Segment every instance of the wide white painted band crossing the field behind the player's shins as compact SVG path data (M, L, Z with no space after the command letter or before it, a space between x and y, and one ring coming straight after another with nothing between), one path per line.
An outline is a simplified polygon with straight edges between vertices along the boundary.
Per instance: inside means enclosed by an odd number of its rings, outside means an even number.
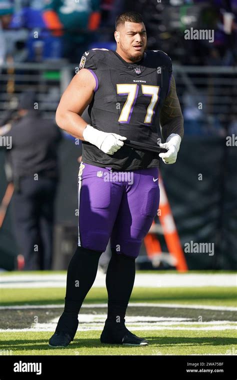
M134 287L200 287L237 285L237 275L230 274L147 274L137 273ZM0 276L0 288L65 287L66 274L21 274ZM105 274L97 272L93 287L105 287Z

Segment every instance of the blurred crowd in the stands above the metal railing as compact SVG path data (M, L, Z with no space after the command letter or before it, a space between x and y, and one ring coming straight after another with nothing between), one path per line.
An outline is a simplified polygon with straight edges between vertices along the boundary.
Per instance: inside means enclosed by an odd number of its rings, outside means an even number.
M236 0L137 0L135 8L147 25L149 49L159 46L182 64L236 62ZM111 48L115 16L133 9L133 0L0 0L0 65L7 55L75 63L92 44ZM213 43L183 38L197 25L214 31Z

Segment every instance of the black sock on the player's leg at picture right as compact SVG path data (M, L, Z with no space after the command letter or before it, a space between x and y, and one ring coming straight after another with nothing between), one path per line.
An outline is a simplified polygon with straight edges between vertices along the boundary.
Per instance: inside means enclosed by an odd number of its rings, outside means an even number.
M107 323L121 323L120 325L124 325L124 317L134 279L135 258L117 254L113 251L106 273L108 292Z

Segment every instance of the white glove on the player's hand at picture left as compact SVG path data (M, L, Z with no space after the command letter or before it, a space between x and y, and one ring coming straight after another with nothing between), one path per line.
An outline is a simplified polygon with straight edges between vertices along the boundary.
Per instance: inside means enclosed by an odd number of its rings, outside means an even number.
M93 128L90 124L86 125L82 135L85 141L97 146L106 154L113 154L123 146L123 140L126 140L124 136L120 136L116 133L103 132Z

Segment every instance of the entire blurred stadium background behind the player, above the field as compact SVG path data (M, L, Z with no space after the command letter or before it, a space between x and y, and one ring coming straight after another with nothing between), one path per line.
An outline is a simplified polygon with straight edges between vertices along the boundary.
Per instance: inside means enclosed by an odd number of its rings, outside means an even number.
M0 0L3 270L67 268L77 243L81 144L59 131L55 110L83 52L116 48L115 17L128 10L142 14L147 48L172 59L184 116L177 162L161 162L164 212L144 239L137 268L236 269L237 0ZM185 37L186 30L200 29L213 32L213 40ZM27 128L34 130L28 144ZM29 157L24 170L20 160L14 165L20 149L21 158ZM40 152L39 166L31 172L30 162ZM26 177L34 173L38 187L27 187ZM21 230L28 203L20 198L20 186L30 188L35 199L35 209L27 210L32 240ZM31 266L22 251L29 243ZM101 257L106 271L109 247Z

